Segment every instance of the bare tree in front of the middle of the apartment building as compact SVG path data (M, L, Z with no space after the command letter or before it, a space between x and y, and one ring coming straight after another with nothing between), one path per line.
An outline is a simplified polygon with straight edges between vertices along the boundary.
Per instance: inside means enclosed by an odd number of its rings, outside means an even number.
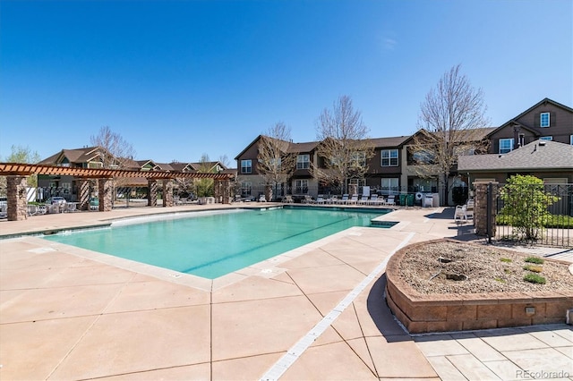
M323 183L341 185L346 192L349 179L363 179L368 172L368 161L374 155L368 133L352 99L338 97L332 110L325 108L317 122L317 155L323 163L312 163L312 174Z

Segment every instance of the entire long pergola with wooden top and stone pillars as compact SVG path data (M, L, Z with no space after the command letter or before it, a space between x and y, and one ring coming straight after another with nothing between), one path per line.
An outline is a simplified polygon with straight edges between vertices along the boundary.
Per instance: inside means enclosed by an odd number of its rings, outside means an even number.
M26 179L31 174L73 176L78 182L78 208L90 207L90 182L98 181L99 211L112 208L112 182L117 178L146 179L150 189L148 206L156 207L158 181L163 182L163 207L173 207L174 179L213 179L217 202L229 203L229 183L233 174L200 174L178 171L139 171L109 168L77 168L57 165L33 165L22 163L0 163L0 175L7 176L8 220L27 218Z

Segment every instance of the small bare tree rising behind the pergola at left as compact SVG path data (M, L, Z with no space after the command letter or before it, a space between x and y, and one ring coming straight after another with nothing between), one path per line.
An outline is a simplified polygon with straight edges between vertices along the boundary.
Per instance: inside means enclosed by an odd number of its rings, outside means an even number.
M98 135L90 136L90 143L99 149L99 157L104 168L124 168L135 156L131 143L108 126L99 129Z

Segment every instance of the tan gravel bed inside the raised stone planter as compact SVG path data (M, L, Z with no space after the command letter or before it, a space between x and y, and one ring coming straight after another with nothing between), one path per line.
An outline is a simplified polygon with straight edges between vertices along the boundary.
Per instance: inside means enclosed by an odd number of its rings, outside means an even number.
M529 264L541 267L539 275L546 279L545 284L524 281L524 276L531 273L523 268L528 265L527 257L530 256L494 247L432 242L409 250L400 262L398 275L423 294L573 290L569 265L549 260L543 265ZM466 275L467 279L454 280L459 275Z

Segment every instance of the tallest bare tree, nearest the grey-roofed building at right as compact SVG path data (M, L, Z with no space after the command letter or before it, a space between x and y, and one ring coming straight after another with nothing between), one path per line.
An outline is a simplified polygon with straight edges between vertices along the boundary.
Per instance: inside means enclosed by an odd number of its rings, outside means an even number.
M448 204L449 174L458 156L487 148L483 139L483 128L489 123L486 109L483 90L471 86L459 64L444 73L421 105L409 153L415 174L439 179L443 205Z

